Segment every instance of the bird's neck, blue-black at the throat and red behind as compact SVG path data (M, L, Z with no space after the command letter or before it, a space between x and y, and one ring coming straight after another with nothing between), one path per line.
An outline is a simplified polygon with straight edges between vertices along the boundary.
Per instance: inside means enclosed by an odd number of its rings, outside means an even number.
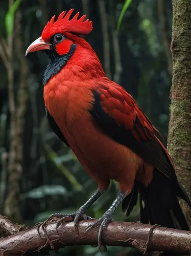
M60 56L54 52L47 51L47 56L49 58L49 63L44 72L44 86L61 70L64 71L63 75L67 78L69 75L66 72L67 70L73 70L75 76L79 77L80 79L105 77L101 62L91 47L87 49L80 45L73 44L71 45L68 54ZM67 66L67 69L65 66Z

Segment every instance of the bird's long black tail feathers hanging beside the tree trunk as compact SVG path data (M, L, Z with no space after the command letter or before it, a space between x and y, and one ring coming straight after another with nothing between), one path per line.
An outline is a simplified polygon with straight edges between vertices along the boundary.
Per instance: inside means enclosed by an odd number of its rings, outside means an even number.
M177 194L188 203L191 203L183 187L172 182L158 170L154 171L151 184L145 188L140 183L134 184L131 193L123 200L122 210L129 216L136 205L138 194L140 201L140 222L151 225L159 224L163 227L189 230L188 224L178 202ZM182 196L183 195L183 196Z

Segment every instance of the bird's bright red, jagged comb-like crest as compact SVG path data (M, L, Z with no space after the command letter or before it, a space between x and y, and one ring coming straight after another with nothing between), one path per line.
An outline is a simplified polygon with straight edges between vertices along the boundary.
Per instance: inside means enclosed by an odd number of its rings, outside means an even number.
M77 19L79 12L74 16L74 18L69 20L71 13L74 9L69 10L68 12L63 11L58 19L55 22L55 15L52 17L50 22L44 27L42 31L42 39L49 40L54 34L70 32L78 35L89 34L92 30L92 22L86 18L86 15L83 15L81 18Z

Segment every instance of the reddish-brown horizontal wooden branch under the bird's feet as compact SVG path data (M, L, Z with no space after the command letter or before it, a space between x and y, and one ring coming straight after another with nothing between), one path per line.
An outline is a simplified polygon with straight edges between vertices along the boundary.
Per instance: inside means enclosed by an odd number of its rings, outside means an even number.
M0 239L0 254L20 255L41 250L50 250L70 245L98 244L98 227L86 232L88 222L79 222L79 234L75 231L74 222L64 222L56 231L58 219L53 219L44 228L38 224L33 228ZM149 238L149 239L148 239ZM143 225L140 222L112 222L103 232L103 244L109 246L134 246L140 252L174 251L191 253L191 232ZM51 245L51 246L50 246Z

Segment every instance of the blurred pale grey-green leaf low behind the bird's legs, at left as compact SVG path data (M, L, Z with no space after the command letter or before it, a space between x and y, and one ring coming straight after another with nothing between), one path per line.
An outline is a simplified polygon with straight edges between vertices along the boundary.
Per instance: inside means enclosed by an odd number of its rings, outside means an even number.
M54 195L65 195L67 190L61 185L42 185L30 190L26 194L21 195L21 199L33 198L39 199L45 196L54 196Z

